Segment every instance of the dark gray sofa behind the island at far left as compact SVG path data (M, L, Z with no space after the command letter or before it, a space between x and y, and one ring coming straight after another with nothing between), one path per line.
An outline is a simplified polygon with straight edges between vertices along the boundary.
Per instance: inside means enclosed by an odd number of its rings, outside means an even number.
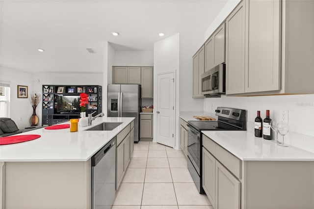
M32 129L19 129L11 118L0 118L0 137L10 136L17 133L41 129L43 127L35 127Z

